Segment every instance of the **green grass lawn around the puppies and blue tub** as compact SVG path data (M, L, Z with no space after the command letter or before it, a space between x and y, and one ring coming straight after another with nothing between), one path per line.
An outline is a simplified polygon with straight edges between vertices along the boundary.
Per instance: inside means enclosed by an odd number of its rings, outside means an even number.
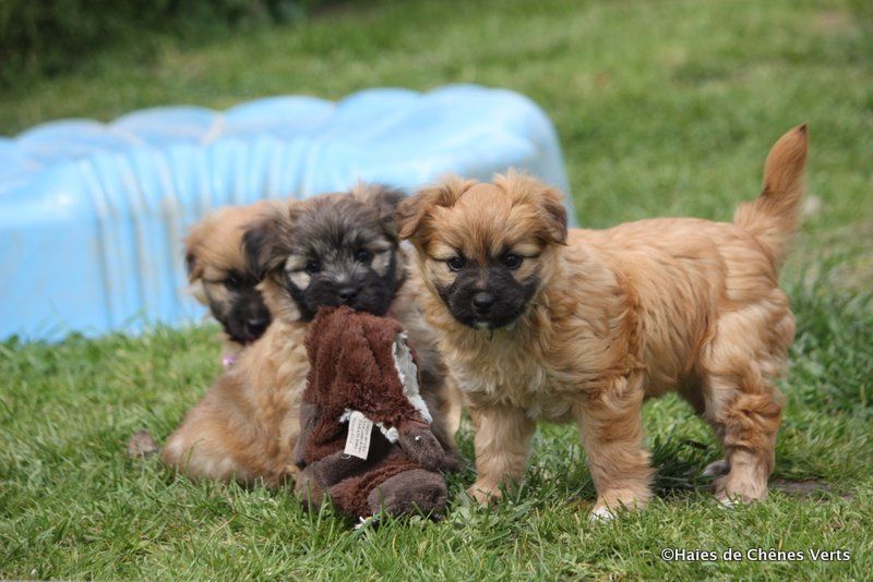
M536 8L534 8L536 7ZM814 481L726 511L699 470L708 429L646 408L658 499L589 524L570 427L543 425L527 484L495 509L351 530L287 493L191 484L127 438L159 438L219 372L212 328L0 344L2 578L865 578L873 570L873 12L860 1L409 1L340 4L297 27L179 45L145 36L0 94L0 133L270 94L372 85L514 88L554 120L579 219L729 219L769 145L811 124L806 219L782 277L799 332L774 477ZM470 434L462 445L471 456ZM451 481L459 494L467 472ZM848 562L665 562L665 547L846 549Z

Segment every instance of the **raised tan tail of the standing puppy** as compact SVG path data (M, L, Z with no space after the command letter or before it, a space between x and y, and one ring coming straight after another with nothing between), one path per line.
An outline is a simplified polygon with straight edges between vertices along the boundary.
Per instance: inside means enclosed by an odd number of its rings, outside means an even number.
M733 222L755 235L777 268L800 227L806 134L804 123L776 142L764 163L764 190L733 215Z

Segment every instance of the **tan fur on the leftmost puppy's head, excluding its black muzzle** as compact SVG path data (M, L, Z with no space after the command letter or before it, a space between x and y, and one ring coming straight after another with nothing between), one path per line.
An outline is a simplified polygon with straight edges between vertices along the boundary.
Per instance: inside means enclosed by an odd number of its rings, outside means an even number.
M259 201L248 206L227 206L220 208L195 223L184 241L186 260L189 265L188 282L191 295L201 305L210 306L206 294L216 301L232 301L231 293L224 281L232 270L246 270L246 256L242 252L242 233L249 223L271 211L278 202ZM225 356L239 355L244 345L222 334Z

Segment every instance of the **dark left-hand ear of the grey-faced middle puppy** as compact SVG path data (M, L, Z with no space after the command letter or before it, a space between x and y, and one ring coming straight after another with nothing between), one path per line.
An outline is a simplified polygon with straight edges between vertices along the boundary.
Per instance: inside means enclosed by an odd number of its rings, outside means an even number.
M242 234L242 252L249 272L259 279L282 266L289 254L296 203L271 206L250 222Z

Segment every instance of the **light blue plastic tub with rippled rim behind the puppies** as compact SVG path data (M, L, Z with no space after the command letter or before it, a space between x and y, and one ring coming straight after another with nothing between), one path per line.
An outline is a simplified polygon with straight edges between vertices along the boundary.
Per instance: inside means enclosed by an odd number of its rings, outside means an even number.
M569 194L542 110L474 85L38 125L0 138L0 339L200 319L182 239L220 206L306 198L359 180L411 193L446 173L488 180L512 167ZM566 204L574 220L570 196Z

